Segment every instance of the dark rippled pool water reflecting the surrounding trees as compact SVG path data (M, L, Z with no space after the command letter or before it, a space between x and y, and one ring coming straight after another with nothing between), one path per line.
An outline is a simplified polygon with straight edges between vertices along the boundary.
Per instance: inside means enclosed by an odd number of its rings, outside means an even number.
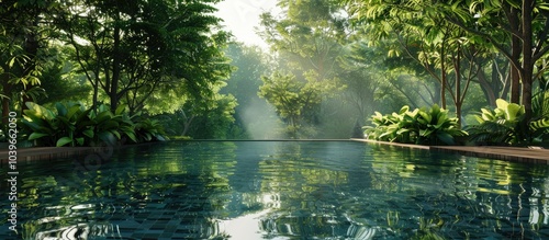
M4 218L0 239L549 239L548 165L355 141L103 157L20 162L19 236Z

